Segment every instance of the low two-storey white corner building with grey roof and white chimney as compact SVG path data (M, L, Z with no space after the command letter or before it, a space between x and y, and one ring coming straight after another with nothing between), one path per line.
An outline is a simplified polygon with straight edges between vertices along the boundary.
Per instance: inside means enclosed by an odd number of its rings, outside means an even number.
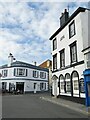
M13 61L10 53L8 64L0 67L2 89L22 92L43 92L48 90L48 69L21 61Z

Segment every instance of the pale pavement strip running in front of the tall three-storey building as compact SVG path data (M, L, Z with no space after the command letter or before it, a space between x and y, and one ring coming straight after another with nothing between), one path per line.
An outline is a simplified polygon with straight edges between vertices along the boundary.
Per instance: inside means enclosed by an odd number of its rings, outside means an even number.
M74 111L78 111L82 114L88 115L88 117L90 118L90 107L86 107L83 104L72 102L66 99L62 99L62 98L52 97L49 95L42 96L41 99L48 101L48 102L52 102L54 104L58 104L63 107L67 107Z

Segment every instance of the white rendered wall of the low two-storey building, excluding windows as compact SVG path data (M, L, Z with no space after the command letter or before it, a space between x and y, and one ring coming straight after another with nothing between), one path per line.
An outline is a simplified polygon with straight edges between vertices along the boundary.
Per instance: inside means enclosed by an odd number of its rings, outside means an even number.
M27 76L25 77L17 77L14 76L14 68L23 68L27 69ZM30 68L25 68L25 67L11 67L11 68L4 68L5 70L8 70L8 75L7 77L1 77L1 82L7 82L6 89L9 90L9 83L14 83L16 87L16 82L24 82L24 92L30 92L34 91L34 83L37 84L37 91L40 90L40 83L46 83L46 89L45 91L48 90L48 72L43 71L43 70L36 70L36 69L30 69ZM2 70L0 69L0 73L2 73ZM38 78L33 77L33 70L36 70L39 72ZM46 78L42 79L40 78L40 72L46 73Z

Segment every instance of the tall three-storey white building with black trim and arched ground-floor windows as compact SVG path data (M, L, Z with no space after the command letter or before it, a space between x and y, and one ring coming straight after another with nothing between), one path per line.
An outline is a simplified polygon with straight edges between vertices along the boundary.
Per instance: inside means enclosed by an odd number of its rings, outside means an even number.
M83 71L86 68L86 53L83 51L90 48L87 45L90 36L88 16L90 10L86 8L79 7L71 16L65 9L60 17L60 28L50 37L53 61L52 94L55 96L77 101L85 98Z

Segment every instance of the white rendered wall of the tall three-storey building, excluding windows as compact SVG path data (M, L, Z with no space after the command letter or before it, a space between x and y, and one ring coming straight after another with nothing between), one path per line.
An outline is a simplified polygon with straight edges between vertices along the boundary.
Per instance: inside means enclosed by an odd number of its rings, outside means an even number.
M69 24L72 21L75 21L75 30L76 35L74 35L72 38L69 39ZM70 66L70 47L69 45L72 44L74 41L76 41L77 44L77 61L81 62L84 61L84 54L82 52L83 50L83 39L86 39L87 36L87 11L79 13L73 20L70 21L70 23L62 30L58 35L56 35L57 39L57 49L52 51L52 55L57 53L57 72L52 73L53 75L56 75L58 78L60 74L63 74L65 76L66 73L71 73L73 71L77 71L79 74L79 79L83 78L83 71L85 70L85 64L80 64L75 67L70 67L68 69L60 70L60 53L62 49L65 48L65 66ZM60 38L64 36L64 38L60 41ZM54 39L55 39L54 38ZM51 41L53 43L53 40ZM53 66L52 66L53 70ZM57 80L58 83L58 80ZM53 85L54 86L54 85ZM58 89L58 87L57 87ZM58 89L59 90L59 89ZM54 94L54 90L53 90ZM62 93L63 94L63 93ZM80 93L81 97L85 97L84 93Z

